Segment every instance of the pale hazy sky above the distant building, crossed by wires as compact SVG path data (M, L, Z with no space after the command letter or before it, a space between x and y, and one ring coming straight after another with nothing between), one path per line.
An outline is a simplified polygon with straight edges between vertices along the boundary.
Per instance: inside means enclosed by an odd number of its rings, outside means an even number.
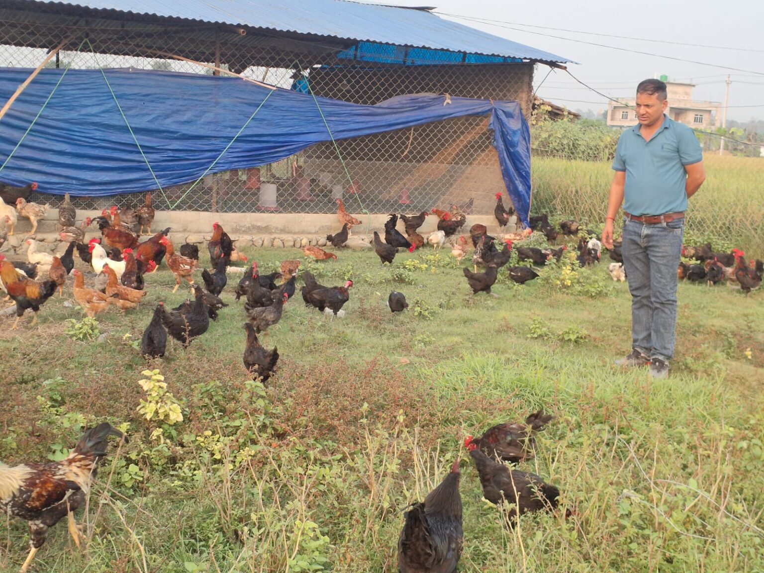
M738 121L764 118L764 1L762 0L720 2L664 0L664 2L646 4L607 3L597 0L543 4L509 3L500 2L500 0L474 0L473 2L432 0L431 3L420 0L397 0L389 3L408 6L431 5L436 6L436 11L440 13L500 21L501 23L492 25L449 18L490 34L507 37L520 44L575 60L579 63L568 64L571 73L582 82L611 97L633 95L636 84L640 80L652 78L657 73L669 76L669 80L696 83L694 99L724 102L724 80L729 73L732 84L727 118ZM630 36L643 38L643 40L529 28L529 25ZM559 37L656 55L648 56L614 50L610 47L581 44ZM681 46L646 40L701 45ZM724 48L744 48L751 51ZM659 56L729 66L746 71L725 70L720 67L669 60ZM535 76L536 86L548 70L547 66L538 67ZM538 95L566 105L570 109L601 110L606 107L604 98L575 83L562 70L556 70L549 75L539 89ZM743 105L758 107L733 107Z

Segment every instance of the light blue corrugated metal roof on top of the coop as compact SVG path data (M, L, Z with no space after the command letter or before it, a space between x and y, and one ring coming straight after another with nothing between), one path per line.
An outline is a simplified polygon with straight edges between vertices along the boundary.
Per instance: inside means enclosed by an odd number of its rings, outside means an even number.
M343 0L79 0L56 3L523 60L571 61L444 20L423 8Z

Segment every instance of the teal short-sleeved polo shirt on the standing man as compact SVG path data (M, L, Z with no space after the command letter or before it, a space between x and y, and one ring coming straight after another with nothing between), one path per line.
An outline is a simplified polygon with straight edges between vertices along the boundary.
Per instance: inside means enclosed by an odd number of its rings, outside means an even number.
M663 115L650 141L639 125L620 134L613 170L626 171L623 210L631 215L662 215L687 209L685 165L703 159L701 144L688 126Z

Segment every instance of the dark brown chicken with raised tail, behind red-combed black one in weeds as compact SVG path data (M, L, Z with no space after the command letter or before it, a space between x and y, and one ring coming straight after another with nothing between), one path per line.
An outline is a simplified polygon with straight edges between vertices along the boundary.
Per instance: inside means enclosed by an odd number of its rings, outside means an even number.
M497 424L487 429L480 438L468 435L465 439L465 448L474 444L490 458L519 464L521 461L533 458L535 447L533 435L544 429L544 426L552 421L552 417L551 414L545 414L543 410L539 410L530 414L525 422Z

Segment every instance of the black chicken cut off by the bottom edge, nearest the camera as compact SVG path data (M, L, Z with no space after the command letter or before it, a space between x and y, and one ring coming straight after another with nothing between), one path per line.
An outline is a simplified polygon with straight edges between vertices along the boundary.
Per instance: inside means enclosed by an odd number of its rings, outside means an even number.
M423 502L413 503L398 538L400 573L454 573L461 556L459 460Z

